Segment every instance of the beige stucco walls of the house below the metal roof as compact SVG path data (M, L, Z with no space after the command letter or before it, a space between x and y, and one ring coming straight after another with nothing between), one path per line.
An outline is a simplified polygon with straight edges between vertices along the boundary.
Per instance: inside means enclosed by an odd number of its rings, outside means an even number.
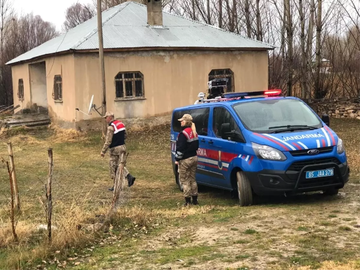
M212 69L231 69L235 92L266 90L268 85L265 50L119 51L106 52L104 60L107 111L113 111L118 118L162 116L176 107L193 104L199 92L206 93ZM32 71L33 64L39 62L45 62L46 70ZM114 78L119 72L130 71L143 74L144 97L117 100ZM34 96L41 92L36 81L41 82L43 79L38 77L46 76L47 108L52 122L76 127L84 126L84 120L100 119L94 111L87 116L75 110L86 112L91 95L94 95L94 104L101 105L97 53L66 54L15 64L12 72L14 105L20 104L19 109L36 108ZM55 75L62 76L62 102L52 98ZM17 96L19 78L24 82L24 100Z

